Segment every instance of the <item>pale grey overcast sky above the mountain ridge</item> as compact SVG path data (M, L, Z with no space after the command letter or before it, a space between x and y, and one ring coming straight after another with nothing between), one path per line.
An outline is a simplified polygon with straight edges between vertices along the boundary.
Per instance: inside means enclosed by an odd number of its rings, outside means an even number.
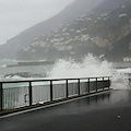
M43 22L74 0L0 0L0 44Z

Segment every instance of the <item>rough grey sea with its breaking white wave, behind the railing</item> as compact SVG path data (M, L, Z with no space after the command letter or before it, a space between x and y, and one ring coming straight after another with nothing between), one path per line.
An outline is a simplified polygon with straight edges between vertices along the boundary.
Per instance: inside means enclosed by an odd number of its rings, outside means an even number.
M0 81L111 76L112 84L124 85L129 84L128 79L131 75L130 62L109 62L92 53L85 56L81 62L59 59L55 64L8 67L17 62L10 59L0 60Z

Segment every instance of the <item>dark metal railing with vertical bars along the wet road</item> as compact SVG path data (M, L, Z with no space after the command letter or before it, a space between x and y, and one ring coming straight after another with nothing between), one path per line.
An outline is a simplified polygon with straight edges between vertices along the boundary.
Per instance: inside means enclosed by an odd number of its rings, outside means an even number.
M110 76L0 82L0 110L44 104L110 87Z

